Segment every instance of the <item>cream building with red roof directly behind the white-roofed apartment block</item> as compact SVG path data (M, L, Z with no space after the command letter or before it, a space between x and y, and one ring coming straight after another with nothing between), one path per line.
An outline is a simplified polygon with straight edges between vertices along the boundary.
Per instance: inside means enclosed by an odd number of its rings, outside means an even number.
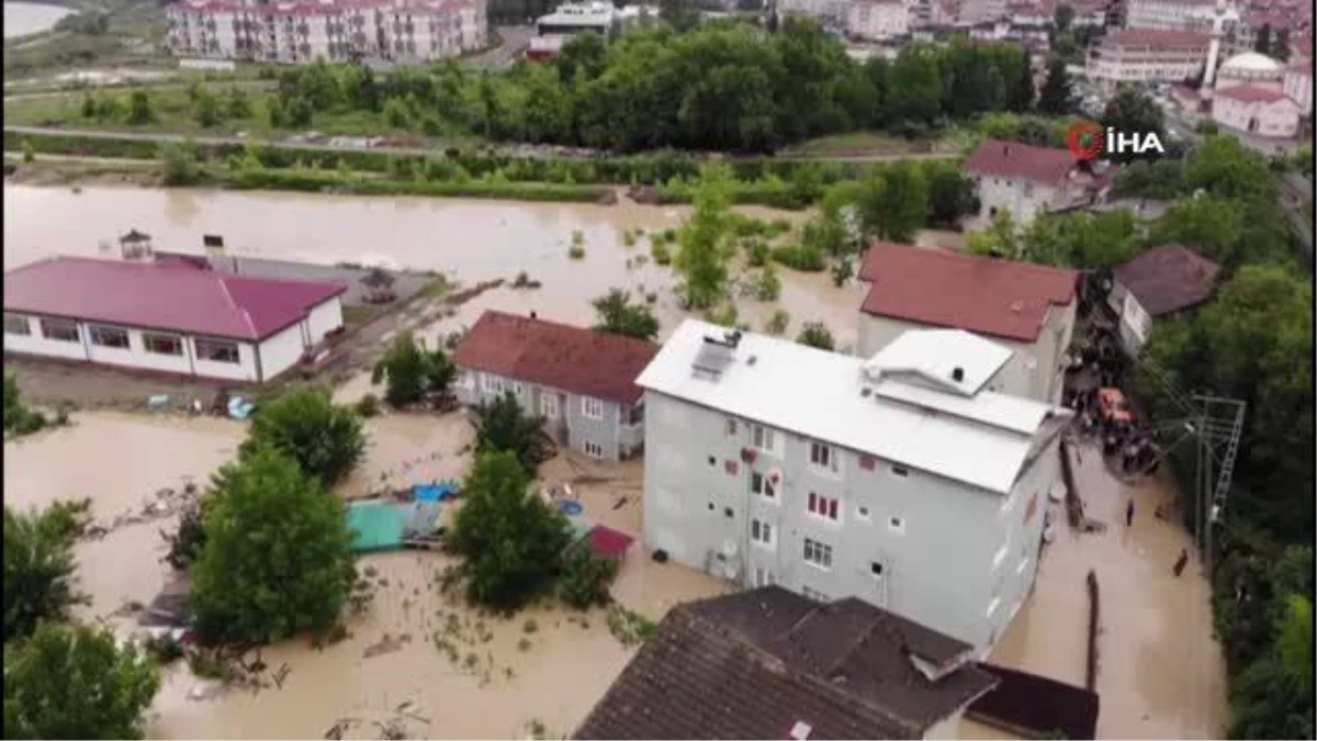
M1060 401L1079 303L1076 272L874 243L860 265L860 280L869 283L860 305L860 357L907 340L910 330L964 330L1011 351L988 378L989 390Z

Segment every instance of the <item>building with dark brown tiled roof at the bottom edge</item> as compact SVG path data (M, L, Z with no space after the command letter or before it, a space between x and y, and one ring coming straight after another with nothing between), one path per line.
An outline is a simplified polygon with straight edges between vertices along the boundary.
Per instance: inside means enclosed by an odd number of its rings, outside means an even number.
M573 738L951 740L998 682L971 649L855 599L764 587L684 603Z

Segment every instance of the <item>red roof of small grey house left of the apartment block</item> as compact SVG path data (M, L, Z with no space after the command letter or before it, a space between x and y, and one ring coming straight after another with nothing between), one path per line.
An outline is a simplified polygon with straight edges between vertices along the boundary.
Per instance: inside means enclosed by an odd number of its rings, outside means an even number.
M632 403L636 377L655 343L502 311L486 311L453 352L462 368L498 373L573 394Z

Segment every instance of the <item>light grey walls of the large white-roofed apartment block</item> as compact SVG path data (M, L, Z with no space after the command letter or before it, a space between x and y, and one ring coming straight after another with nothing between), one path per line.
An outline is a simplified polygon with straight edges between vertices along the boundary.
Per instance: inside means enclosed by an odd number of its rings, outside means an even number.
M1027 501L1019 500L1055 479L1055 455L1040 456L1008 500L919 471L900 476L881 460L868 471L857 454L840 448L834 448L840 476L831 477L810 465L809 439L781 430L780 458L756 454L745 463L747 421L736 419L728 435L728 418L715 410L652 392L647 407L644 539L651 551L662 548L745 587L764 575L797 592L857 596L980 649L1000 637L1033 583L1047 490L1040 489L1027 527ZM751 473L772 469L782 473L776 501L751 493ZM807 512L810 492L839 500L838 522ZM772 525L772 547L751 541L753 519ZM803 559L806 538L831 546L830 568ZM1023 558L1033 563L1019 570ZM874 562L882 564L881 578Z

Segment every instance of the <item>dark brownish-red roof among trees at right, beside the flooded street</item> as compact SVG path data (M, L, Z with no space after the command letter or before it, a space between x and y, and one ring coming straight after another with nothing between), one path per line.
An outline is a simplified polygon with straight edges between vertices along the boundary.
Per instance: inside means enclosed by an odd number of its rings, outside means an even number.
M1221 265L1179 244L1163 244L1117 265L1112 274L1150 316L1162 316L1212 298Z

